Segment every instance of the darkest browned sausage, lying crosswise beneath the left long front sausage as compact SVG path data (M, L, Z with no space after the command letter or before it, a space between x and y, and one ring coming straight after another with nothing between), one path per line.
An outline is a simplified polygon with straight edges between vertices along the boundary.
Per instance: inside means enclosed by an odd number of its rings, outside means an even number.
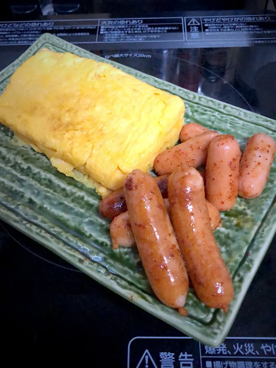
M167 184L169 175L162 175L154 178L162 193L163 198L168 197ZM125 204L124 188L115 190L113 193L109 194L107 197L103 198L100 202L99 211L104 217L113 219L115 216L124 213L127 210L127 205Z

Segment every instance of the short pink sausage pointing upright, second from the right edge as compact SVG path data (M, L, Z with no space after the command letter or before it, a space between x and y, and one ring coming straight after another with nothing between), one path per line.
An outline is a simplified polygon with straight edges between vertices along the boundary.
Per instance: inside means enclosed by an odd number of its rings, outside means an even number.
M210 143L205 194L219 211L229 210L236 203L240 158L240 147L233 135L220 135Z

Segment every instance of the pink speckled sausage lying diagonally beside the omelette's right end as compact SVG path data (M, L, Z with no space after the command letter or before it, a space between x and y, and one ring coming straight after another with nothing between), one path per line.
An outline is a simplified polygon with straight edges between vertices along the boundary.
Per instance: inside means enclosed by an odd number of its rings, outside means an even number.
M160 153L154 161L155 171L164 175L180 170L183 164L190 167L204 165L209 144L217 135L219 133L210 130Z

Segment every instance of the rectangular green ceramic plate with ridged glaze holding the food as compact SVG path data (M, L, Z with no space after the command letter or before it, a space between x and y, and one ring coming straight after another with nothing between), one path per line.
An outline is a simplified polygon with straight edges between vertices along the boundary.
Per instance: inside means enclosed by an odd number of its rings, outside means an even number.
M42 47L104 61L185 101L186 123L195 121L222 133L231 133L244 147L247 137L263 132L276 138L276 122L187 91L139 71L102 59L55 36L40 37L22 56L0 73L0 93L11 74ZM185 334L209 346L219 345L229 331L245 293L276 231L276 163L259 198L238 198L222 213L223 227L215 230L217 243L231 273L235 298L229 311L205 307L192 290L188 317L165 307L152 294L137 266L135 249L112 249L109 222L99 216L100 197L31 148L11 143L13 133L0 124L0 217L38 241L109 289ZM93 291L92 291L93 292ZM108 316L107 316L108 317Z

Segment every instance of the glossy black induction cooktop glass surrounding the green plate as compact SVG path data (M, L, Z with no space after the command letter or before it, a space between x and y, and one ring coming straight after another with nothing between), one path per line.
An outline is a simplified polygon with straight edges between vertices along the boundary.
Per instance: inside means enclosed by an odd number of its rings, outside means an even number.
M176 15L179 16L181 15ZM204 14L197 13L195 16L188 14L186 25L192 19L194 21L190 26L196 24L201 16L204 17ZM238 17L238 13L236 16ZM50 18L48 17L47 21L50 21ZM89 17L79 19L82 19L84 24L89 23L87 21ZM72 27L80 24L79 19L70 18ZM99 19L108 20L108 17L98 16L93 18L95 19L97 19L96 26L99 26ZM94 24L92 18L91 24ZM184 25L183 22L183 27ZM35 29L35 26L32 27ZM39 26L38 30L41 31ZM269 30L276 31L274 23L271 23ZM91 35L94 32L92 31ZM84 42L80 36L82 35L70 35L71 42L78 43L106 59L115 60L201 95L276 119L276 43L246 45L237 43L236 46L230 44L221 46L217 43L213 47L207 47L202 40L203 46L195 47L185 43L177 44L178 41L172 41L174 42L172 45L171 42L164 40L155 42L149 47L149 43L125 40L120 42L118 39L115 39L116 42L102 42L99 45L96 42ZM68 37L68 33L65 37ZM181 42L188 42L185 33L183 38ZM18 39L2 43L0 69L26 50L28 41L25 43ZM185 45L187 47L183 47ZM274 238L229 333L229 336L248 339L263 337L263 346L265 343L270 346L271 341L269 353L271 357L267 368L275 368L272 363L276 362L276 354L273 361L273 349L276 353L276 346L274 348L273 344L276 345L276 341L265 340L276 338L275 244ZM170 364L174 364L170 366L165 365L162 359L155 361L152 358L153 354L149 352L149 346L151 351L154 351L161 344L160 339L140 343L145 350L142 357L135 352L138 347L136 348L133 342L130 345L132 347L128 349L130 341L137 336L184 337L184 335L109 291L4 222L0 222L0 274L2 280L0 315L1 331L5 336L2 342L4 354L13 346L14 352L28 352L27 355L32 357L34 355L31 353L36 352L43 353L41 357L59 356L63 362L69 360L72 362L74 355L79 362L85 359L85 364L92 367L127 367L127 357L129 367L146 367L146 365L149 368L192 367L190 363L180 365L181 358L173 363L170 361ZM176 346L173 339L162 341L160 348L162 346L164 352L168 352L169 349L173 351L173 347ZM229 344L233 347L235 344L238 344L238 347L242 346L241 351L244 347L250 346L247 344L252 344L252 340L245 342L230 339L226 342L227 346ZM226 367L215 363L216 361L223 363L225 359L204 358L202 356L204 347L198 347L198 343L190 340L181 340L181 343L183 346L190 346L194 351L197 350L195 355L201 354L200 359L194 358L194 367L202 368L202 365L204 368ZM240 362L249 356L245 355L246 351L248 350L244 350L244 354L240 353ZM209 356L209 353L206 350L205 355ZM216 354L216 351L213 353ZM256 357L258 354L255 354L255 360L251 359L252 367L266 368L262 365L266 355L259 361ZM232 360L234 361L234 358ZM168 362L169 360L167 364ZM235 367L235 364L231 366ZM251 368L251 365L250 362L247 365L239 363L236 367Z

